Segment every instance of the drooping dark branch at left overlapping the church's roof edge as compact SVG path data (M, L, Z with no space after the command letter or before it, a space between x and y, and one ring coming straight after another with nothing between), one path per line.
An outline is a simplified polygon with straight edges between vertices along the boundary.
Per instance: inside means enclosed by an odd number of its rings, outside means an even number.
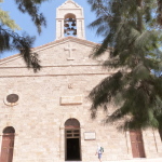
M0 52L18 50L27 67L37 72L41 66L38 54L31 52L33 40L27 35L19 37L16 32L0 27Z

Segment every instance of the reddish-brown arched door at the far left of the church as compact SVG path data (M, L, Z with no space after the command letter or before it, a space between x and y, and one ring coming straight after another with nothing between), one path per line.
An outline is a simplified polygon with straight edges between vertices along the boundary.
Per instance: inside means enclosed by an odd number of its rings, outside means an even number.
M12 162L15 130L8 126L3 130L0 162Z

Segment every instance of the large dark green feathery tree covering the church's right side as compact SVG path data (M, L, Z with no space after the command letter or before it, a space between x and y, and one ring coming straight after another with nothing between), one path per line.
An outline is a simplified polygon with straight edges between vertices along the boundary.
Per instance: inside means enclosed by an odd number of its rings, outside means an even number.
M90 93L92 117L98 108L117 109L108 123L118 129L162 129L162 0L89 0L97 19L90 27L104 36L93 57L109 48L105 68L116 72Z

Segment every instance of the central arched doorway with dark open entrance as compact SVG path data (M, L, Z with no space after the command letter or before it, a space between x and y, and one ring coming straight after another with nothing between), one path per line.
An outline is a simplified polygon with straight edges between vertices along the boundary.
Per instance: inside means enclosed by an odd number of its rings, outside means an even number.
M65 160L81 160L80 123L77 119L65 122Z

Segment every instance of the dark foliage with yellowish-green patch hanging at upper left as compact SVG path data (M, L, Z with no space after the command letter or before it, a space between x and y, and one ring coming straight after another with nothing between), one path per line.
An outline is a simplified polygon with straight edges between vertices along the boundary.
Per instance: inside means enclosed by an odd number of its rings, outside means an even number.
M41 26L45 26L45 18L39 12L40 4L48 0L14 0L17 9L22 13L27 13L35 23L38 32L41 32ZM0 0L3 2L3 0ZM33 68L33 71L40 69L40 60L38 54L31 52L35 37L29 37L27 33L19 36L15 32L19 27L13 19L10 18L8 12L0 9L0 53L4 51L18 50L28 68Z

